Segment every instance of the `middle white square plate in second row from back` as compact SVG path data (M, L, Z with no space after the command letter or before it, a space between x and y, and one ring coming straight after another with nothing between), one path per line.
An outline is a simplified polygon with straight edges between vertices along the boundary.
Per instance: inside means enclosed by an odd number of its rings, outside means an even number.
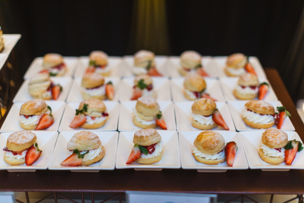
M152 77L153 91L157 101L171 101L169 80L167 77ZM124 78L121 82L120 101L130 101L133 94L134 77Z

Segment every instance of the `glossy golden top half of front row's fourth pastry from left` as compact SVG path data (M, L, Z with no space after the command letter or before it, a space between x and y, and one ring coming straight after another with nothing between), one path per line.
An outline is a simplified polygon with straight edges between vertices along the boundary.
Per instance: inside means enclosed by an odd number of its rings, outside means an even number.
M225 139L216 131L205 130L195 138L194 146L204 154L216 154L224 149Z

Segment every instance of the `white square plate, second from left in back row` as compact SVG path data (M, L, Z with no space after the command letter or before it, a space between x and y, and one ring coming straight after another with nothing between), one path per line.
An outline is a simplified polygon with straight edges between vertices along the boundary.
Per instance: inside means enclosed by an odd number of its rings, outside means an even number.
M108 58L108 66L111 70L111 77L120 77L121 71L119 64L122 63L122 57L118 56L110 56ZM75 77L82 77L85 74L85 70L88 68L89 64L89 57L88 56L81 56L79 59L79 63L75 72Z

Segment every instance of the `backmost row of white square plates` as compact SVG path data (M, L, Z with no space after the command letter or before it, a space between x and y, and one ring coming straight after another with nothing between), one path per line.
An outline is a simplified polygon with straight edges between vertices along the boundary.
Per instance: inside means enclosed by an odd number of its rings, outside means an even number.
M37 57L29 66L24 79L28 79L42 69L43 57ZM266 79L266 74L257 57L249 57L250 63L253 65L257 76ZM64 62L68 67L66 76L82 77L89 64L88 56L81 57L64 57ZM226 77L223 72L225 67L226 56L204 56L202 57L202 65L210 77ZM132 68L134 67L133 56L111 56L108 60L112 77L132 76ZM181 77L178 69L181 67L178 56L155 56L155 65L157 70L165 77Z

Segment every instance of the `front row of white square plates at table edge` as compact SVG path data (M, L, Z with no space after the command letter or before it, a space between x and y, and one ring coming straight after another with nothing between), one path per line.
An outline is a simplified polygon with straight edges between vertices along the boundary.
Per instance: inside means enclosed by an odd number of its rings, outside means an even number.
M0 170L9 172L34 172L36 170L71 170L72 172L98 172L99 170L128 169L134 170L162 170L162 169L195 169L198 172L225 172L226 170L261 169L265 171L288 171L290 169L304 169L304 152L297 153L292 165L285 163L271 165L265 163L258 154L261 146L263 131L218 131L225 142L237 143L237 153L230 167L226 162L219 165L206 165L197 162L192 156L193 142L201 131L165 131L158 130L163 142L163 157L153 164L126 164L133 147L135 131L95 131L105 148L104 158L90 166L60 166L60 163L70 156L67 143L78 131L33 131L37 137L39 148L43 151L42 156L32 166L10 166L0 159ZM288 140L299 140L299 135L294 131L286 131ZM11 133L0 134L0 148L5 147L6 140ZM56 141L57 140L57 141ZM302 141L301 141L302 142ZM55 144L56 143L56 144ZM4 156L0 151L0 157Z

